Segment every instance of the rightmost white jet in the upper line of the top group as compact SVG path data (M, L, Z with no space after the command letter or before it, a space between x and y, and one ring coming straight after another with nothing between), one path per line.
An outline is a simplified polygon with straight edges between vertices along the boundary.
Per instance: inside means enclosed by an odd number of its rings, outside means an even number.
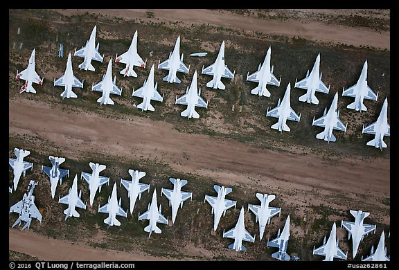
M377 100L378 92L375 94L373 90L367 85L367 60L364 62L362 73L360 73L359 80L348 89L342 89L342 96L350 96L355 98L355 101L346 106L348 109L355 109L356 111L367 111L366 106L363 104L363 99Z

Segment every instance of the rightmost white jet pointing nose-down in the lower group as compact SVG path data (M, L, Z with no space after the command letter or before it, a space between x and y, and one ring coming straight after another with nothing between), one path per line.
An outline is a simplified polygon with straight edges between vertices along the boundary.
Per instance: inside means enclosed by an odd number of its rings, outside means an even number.
M363 212L362 210L350 210L355 222L341 222L341 228L344 227L348 231L348 240L351 239L353 243L353 258L356 257L357 249L359 248L360 242L363 241L364 235L369 233L375 233L375 225L363 224L363 221L370 213Z

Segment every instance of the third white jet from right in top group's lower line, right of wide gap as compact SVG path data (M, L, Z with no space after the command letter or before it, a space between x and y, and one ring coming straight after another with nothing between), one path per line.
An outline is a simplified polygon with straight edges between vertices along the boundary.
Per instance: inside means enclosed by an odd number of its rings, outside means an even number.
M285 90L285 94L283 97L283 101L280 103L280 99L278 99L277 107L271 109L267 108L266 116L276 117L278 118L278 122L272 125L272 129L278 129L279 132L290 132L290 127L288 127L287 120L292 120L299 122L301 120L301 114L296 114L296 112L292 109L290 104L290 95L291 95L291 83L288 82L287 89Z

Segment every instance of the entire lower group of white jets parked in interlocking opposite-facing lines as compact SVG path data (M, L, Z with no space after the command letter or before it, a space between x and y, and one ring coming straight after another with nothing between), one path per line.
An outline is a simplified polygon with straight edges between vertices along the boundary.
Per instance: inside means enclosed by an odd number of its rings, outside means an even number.
M19 163L23 164L21 169L13 167L13 173L15 175L13 187L16 190L21 173L23 173L25 177L26 170L32 170L33 163L23 161L24 157L30 154L28 150L15 148L14 153L17 156L17 159L19 159ZM60 165L65 161L63 157L49 156L49 160L51 161L51 167L42 165L42 172L49 177L51 184L51 197L54 199L57 183L62 184L62 178L66 176L69 177L69 170L60 168ZM12 163L14 164L15 159L10 158L9 163L10 165ZM90 206L93 206L96 192L100 192L101 187L105 183L109 185L109 177L103 177L100 175L100 172L105 170L105 165L93 162L90 162L89 165L92 172L82 172L81 179L85 179L85 181L87 181L89 184L89 203ZM139 181L145 177L145 172L130 169L129 174L132 177L132 181L121 179L121 186L127 190L127 195L130 198L130 214L132 215L137 198L141 199L142 192L150 192L150 185L141 183ZM175 224L177 211L179 208L183 207L184 201L187 199L192 199L193 193L181 190L181 188L186 185L187 180L170 177L169 181L173 184L173 189L161 188L161 195L165 195L166 198L168 198L169 206L172 209L172 224ZM12 225L12 228L17 224L20 225L21 222L26 222L22 230L24 230L26 227L29 228L32 218L36 218L42 222L42 214L35 206L35 196L33 196L33 190L36 185L37 182L31 180L28 190L26 194L24 194L24 198L17 202L17 204L11 206L10 213L14 212L19 214L19 218ZM226 215L226 211L230 208L236 208L237 201L226 199L226 196L232 192L232 188L218 185L214 185L213 188L218 193L218 196L215 197L211 195L205 195L204 202L207 201L211 206L211 214L213 214L214 217L213 231L216 231L221 217L224 217L224 215ZM12 188L10 188L10 192L11 191ZM265 233L265 227L267 224L270 224L270 219L272 219L272 217L276 216L277 214L281 215L281 208L269 206L269 203L276 198L275 195L256 193L256 197L259 199L260 205L248 204L248 211L251 210L251 212L256 216L256 223L259 224L259 238L262 240ZM58 202L60 204L67 204L68 206L68 208L64 210L65 220L67 220L68 217L80 217L80 214L76 208L86 209L87 203L82 201L82 190L80 190L78 193L77 174L73 179L73 183L71 188L69 188L68 194L64 197L60 196ZM376 226L363 223L364 218L368 217L370 213L362 212L362 210L350 210L350 212L353 217L355 217L355 222L342 221L341 228L344 227L348 231L348 239L351 239L352 236L353 258L355 258L360 242L362 242L365 235L371 232L375 233ZM121 206L121 197L118 199L116 183L114 183L112 195L109 195L107 204L98 206L98 213L108 214L108 217L104 219L104 223L108 225L108 228L109 226L121 226L121 222L116 219L117 215L121 217L127 217L127 210L123 209ZM156 189L154 189L154 192L152 193L152 200L150 204L148 204L148 210L143 214L139 213L139 220L143 219L149 220L148 226L144 228L144 231L149 233L148 237L151 236L152 231L155 233L161 233L161 228L157 226L157 223L168 224L169 218L165 217L161 213L161 204L159 204L158 207ZM230 244L228 247L230 249L234 249L235 251L247 250L245 246L243 246L242 241L255 242L255 235L252 236L251 233L245 229L244 220L244 206L242 206L236 226L231 228L229 231L223 231L223 237L234 239L233 244ZM280 233L279 229L277 237L274 240L267 240L267 246L278 248L278 251L272 254L273 258L276 258L277 260L291 260L291 256L287 254L287 244L289 240L290 215L287 216L283 231ZM324 237L323 245L317 249L313 249L313 254L324 255L326 257L325 260L330 261L334 258L346 260L347 252L345 254L341 249L339 249L338 240L336 240L335 222L332 225L332 230L328 241L326 242L326 237ZM387 251L384 249L384 232L382 232L380 242L375 253L373 253L372 248L371 255L364 260L389 260L387 257Z

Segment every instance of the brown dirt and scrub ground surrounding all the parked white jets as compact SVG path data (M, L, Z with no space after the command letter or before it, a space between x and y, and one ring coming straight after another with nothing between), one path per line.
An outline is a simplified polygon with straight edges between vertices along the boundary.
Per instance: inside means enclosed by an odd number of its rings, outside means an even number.
M312 255L313 246L321 245L336 222L340 248L348 251L348 260L360 260L378 243L382 231L390 231L390 138L384 138L388 147L380 151L366 146L373 136L361 134L363 123L373 123L384 98L389 99L389 10L10 10L9 15L9 156L15 157L18 147L30 150L26 160L34 162L33 171L9 195L9 206L35 179L39 181L35 203L43 215L41 223L34 219L30 229L21 232L11 229L17 214L10 214L9 250L17 252L10 253L10 260L23 260L15 255L19 253L35 260L274 260L271 254L277 250L267 247L266 241L276 237L287 215L290 255L322 260ZM92 62L96 71L91 73L80 71L82 58L73 57L74 74L85 78L85 87L74 91L78 98L62 100L62 88L53 87L53 78L63 74L67 51L83 46L94 24L105 61ZM114 63L113 75L123 86L123 95L112 96L114 106L100 106L96 102L100 96L90 91L90 84L101 80L110 57L127 51L136 29L138 51L148 59L147 66L134 68L138 78L123 78L117 72L122 65ZM225 81L225 91L206 88L211 78L199 76L202 96L209 100L208 109L197 109L199 119L181 118L182 107L174 104L191 77L179 74L181 85L167 85L162 81L166 72L157 69L155 81L165 93L164 102L154 102L154 112L134 108L141 99L132 98L132 88L141 87L151 64L168 57L177 35L182 37L180 53L184 51L184 61L192 66L190 74L214 61L223 39L227 65L237 70L233 82ZM64 58L58 58L62 41ZM256 70L270 44L281 86L270 87L271 98L247 95L255 84L245 82L245 73ZM26 68L34 47L36 71L44 76L44 84L34 84L36 94L19 93L22 81L15 73ZM199 51L209 56L188 56ZM304 92L292 87L291 104L302 111L301 122L287 123L291 132L270 129L276 120L265 117L266 108L276 106L288 80L303 78L318 51L323 80L332 85L332 93L317 94L317 106L299 104ZM335 91L356 83L365 58L369 86L379 91L378 100L365 100L368 110L359 113L346 109L353 101L339 93L340 118L348 130L334 132L335 143L317 140L321 128L312 127L313 116L322 115ZM285 62L284 68L278 60ZM48 177L40 170L41 165L50 165L49 155L65 157L62 167L70 170L54 200ZM58 204L57 197L67 194L75 174L79 178L80 172L89 172L91 161L107 165L102 173L111 184L96 195L94 206L78 209L79 218L64 221L67 206ZM98 206L106 203L116 182L122 206L128 208L127 192L119 186L121 178L129 179L128 169L147 173L141 181L150 183L150 192L136 201L133 215L118 217L121 226L107 229L106 215L97 213ZM12 177L10 168L9 186ZM193 192L193 200L184 202L175 224L159 225L162 233L148 238L143 231L148 221L139 222L138 213L147 209L156 188L162 213L171 219L168 199L160 197L161 188L172 188L169 177L187 179L182 190ZM204 203L204 195L215 196L215 184L233 188L227 198L236 200L237 207L227 211L213 232L211 206ZM88 200L87 183L80 178L78 189ZM260 241L255 217L246 211L245 226L256 241L245 242L244 253L227 249L233 240L223 238L223 230L235 226L241 206L247 210L247 204L258 204L256 192L276 195L271 206L281 207L281 216L272 218ZM339 228L341 220L353 221L349 210L370 212L364 223L377 225L375 234L364 237L356 258L347 232ZM386 237L388 254L389 242Z

